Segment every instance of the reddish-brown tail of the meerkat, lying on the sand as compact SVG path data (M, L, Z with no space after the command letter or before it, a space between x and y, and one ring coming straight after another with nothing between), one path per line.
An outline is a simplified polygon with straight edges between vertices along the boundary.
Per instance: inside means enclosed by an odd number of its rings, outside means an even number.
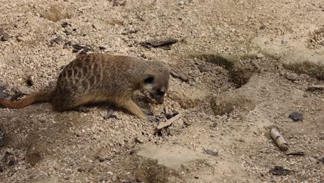
M0 105L11 109L24 108L33 103L45 103L52 100L53 92L44 91L36 94L30 94L19 101L6 101L0 98Z

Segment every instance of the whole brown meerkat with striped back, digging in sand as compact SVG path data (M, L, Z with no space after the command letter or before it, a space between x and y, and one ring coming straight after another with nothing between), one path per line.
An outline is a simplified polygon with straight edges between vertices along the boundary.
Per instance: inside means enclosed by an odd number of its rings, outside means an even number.
M31 94L19 101L0 98L0 105L23 108L49 102L56 112L77 110L89 103L114 103L140 119L153 116L132 100L135 91L147 91L162 104L168 91L170 71L161 61L146 61L125 55L91 53L80 55L61 71L55 89Z

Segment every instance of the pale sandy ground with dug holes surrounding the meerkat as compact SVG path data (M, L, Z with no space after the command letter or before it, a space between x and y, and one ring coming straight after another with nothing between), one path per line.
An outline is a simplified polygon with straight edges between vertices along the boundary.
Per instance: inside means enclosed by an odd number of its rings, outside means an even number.
M183 114L159 132L123 110L104 119L105 105L0 108L0 182L324 182L323 1L0 3L3 98L52 86L80 47L163 60L189 78L170 79L163 105L137 94L160 121ZM179 41L141 45L166 37Z

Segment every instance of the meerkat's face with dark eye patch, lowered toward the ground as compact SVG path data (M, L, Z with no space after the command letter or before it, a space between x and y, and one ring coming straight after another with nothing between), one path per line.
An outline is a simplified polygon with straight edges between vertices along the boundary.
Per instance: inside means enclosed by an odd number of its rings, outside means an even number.
M148 74L143 80L143 90L147 91L151 98L162 104L165 93L168 92L169 76L159 76Z

